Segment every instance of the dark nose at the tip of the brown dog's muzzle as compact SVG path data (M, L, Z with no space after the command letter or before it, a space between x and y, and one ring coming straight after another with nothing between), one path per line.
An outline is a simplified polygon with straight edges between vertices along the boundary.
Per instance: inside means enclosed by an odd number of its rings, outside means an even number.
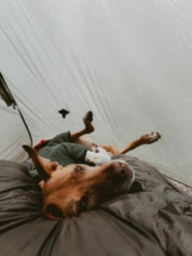
M124 160L113 160L111 162L111 168L113 173L122 178L122 180L127 179L127 177L132 174L132 170Z

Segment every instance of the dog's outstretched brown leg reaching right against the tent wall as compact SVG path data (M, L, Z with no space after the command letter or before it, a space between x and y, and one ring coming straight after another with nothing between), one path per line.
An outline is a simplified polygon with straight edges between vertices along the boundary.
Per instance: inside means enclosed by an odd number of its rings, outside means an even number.
M134 150L135 148L137 148L137 146L156 142L160 138L161 138L161 135L158 132L152 131L150 134L142 135L141 138L137 140L133 140L130 144L127 145L126 148L120 151L120 154L126 154L128 151Z

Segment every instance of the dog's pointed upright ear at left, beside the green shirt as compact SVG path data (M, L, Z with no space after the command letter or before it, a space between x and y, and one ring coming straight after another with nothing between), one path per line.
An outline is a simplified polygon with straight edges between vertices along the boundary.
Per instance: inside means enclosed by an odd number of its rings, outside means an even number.
M58 167L61 167L57 162L50 161L45 157L38 155L36 150L34 150L31 146L22 145L22 147L33 160L36 166L36 170L42 180L48 180L50 178L51 172L55 171Z

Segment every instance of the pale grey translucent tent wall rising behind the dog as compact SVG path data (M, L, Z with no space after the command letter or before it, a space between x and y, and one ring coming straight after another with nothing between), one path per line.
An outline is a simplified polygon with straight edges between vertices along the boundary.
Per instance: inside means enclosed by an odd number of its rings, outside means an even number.
M90 109L98 143L122 148L161 132L132 155L192 185L191 1L7 0L0 9L0 70L35 143L78 129ZM0 102L0 121L1 158L22 160L29 138L17 111Z

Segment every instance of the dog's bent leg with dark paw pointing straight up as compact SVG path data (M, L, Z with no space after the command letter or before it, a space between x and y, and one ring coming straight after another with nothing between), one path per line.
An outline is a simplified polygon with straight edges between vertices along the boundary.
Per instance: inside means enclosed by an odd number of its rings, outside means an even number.
M71 133L71 139L73 140L74 143L80 143L79 137L81 137L82 135L89 134L94 131L94 126L92 124L92 121L93 121L93 112L92 111L88 111L85 114L83 121L84 121L84 129L79 130L74 133Z

